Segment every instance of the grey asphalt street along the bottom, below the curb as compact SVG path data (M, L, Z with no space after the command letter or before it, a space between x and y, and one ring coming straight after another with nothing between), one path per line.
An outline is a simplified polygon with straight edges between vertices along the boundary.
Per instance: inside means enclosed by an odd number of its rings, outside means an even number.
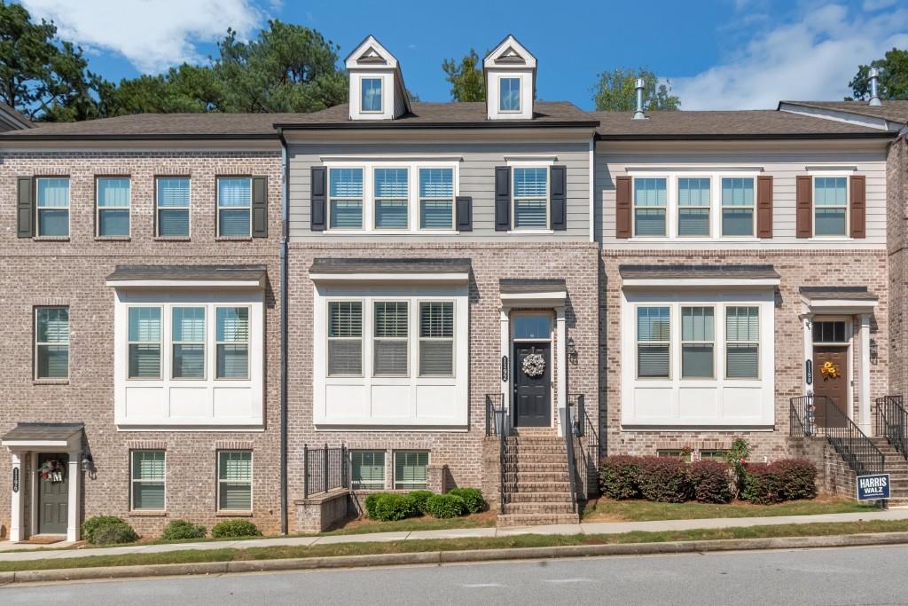
M908 547L300 571L0 588L0 604L906 604Z

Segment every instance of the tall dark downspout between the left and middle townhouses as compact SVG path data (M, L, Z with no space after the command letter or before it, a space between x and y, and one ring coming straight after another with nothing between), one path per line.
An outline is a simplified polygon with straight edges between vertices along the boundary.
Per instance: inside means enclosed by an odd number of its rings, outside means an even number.
M287 259L287 222L290 217L290 153L282 129L278 129L278 137L281 139L281 169L283 170L281 184L281 534L287 534L287 509L289 507L287 499L287 333L289 323L287 293L289 287L287 280L290 274Z

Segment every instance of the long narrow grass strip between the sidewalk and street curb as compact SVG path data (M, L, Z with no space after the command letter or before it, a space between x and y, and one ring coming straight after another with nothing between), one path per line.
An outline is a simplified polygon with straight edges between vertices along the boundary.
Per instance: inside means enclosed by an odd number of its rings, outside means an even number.
M132 553L52 560L0 561L0 571L34 571L97 566L131 566L139 564L175 564L202 561L280 560L375 553L419 551L461 551L560 545L595 545L615 543L707 541L715 539L753 539L766 537L824 536L867 532L908 531L908 520L870 522L835 522L814 524L780 524L693 531L627 532L600 535L520 534L512 537L483 539L445 539L437 541L355 542L311 547L255 547L250 549L186 550L166 553Z

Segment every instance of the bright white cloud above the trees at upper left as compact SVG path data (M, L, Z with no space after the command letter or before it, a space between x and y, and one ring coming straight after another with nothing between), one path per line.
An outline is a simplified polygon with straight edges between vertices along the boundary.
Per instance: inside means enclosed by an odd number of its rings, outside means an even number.
M263 15L249 0L22 0L33 18L53 19L64 40L113 51L145 73L201 60L195 45L232 27L246 37Z

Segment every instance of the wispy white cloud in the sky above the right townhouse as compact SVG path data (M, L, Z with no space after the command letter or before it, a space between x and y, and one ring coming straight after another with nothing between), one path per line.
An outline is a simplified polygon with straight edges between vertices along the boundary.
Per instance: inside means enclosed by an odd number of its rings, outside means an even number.
M906 45L908 10L862 15L842 5L814 6L743 41L720 65L669 79L689 110L771 109L783 99L835 101L850 93L858 65Z

